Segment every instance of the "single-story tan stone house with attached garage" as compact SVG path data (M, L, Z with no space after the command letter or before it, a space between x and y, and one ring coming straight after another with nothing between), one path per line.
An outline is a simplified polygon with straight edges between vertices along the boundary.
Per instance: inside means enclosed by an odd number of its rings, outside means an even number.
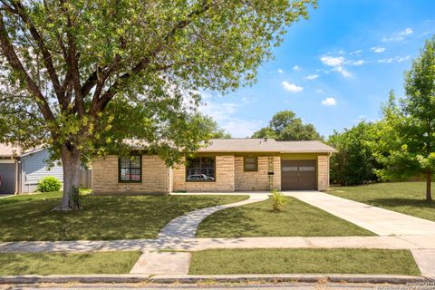
M159 156L132 147L131 157L92 161L92 189L97 194L326 190L335 151L320 141L216 139L195 158L167 167Z

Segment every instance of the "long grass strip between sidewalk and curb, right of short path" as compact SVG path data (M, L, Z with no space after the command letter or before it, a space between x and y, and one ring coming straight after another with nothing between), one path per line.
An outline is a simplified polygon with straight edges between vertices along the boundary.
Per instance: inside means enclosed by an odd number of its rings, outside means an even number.
M408 250L214 249L194 252L189 274L420 275Z

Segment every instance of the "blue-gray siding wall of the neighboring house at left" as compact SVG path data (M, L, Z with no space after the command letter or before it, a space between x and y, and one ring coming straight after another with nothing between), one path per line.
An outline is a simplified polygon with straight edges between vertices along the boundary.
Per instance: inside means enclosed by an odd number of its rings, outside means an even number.
M48 169L45 164L48 160L47 150L38 151L21 158L23 169L23 192L33 192L39 180L53 176L63 181L63 169L60 164Z

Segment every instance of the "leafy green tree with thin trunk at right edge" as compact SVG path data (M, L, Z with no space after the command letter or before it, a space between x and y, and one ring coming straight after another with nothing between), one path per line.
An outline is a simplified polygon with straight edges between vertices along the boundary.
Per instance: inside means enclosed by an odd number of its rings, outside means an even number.
M433 42L430 45L433 60ZM426 178L426 200L431 202L430 183L435 169L435 124L430 116L435 114L434 89L431 89L431 98L420 94L424 92L423 87L413 91L414 85L421 85L418 81L422 77L420 68L427 70L427 52L430 49L426 47L420 58L412 63L411 71L406 73L406 98L398 103L394 93L390 92L389 102L382 108L383 118L377 129L378 140L372 143L372 148L376 160L383 165L382 169L377 170L382 179L406 179L423 174ZM435 82L435 74L430 76L427 73L423 78L431 78Z

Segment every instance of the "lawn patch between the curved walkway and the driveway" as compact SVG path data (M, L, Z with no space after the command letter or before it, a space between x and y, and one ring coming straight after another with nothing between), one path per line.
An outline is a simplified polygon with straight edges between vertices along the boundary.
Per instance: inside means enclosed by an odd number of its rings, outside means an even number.
M285 210L271 211L272 200L227 208L204 219L197 237L334 237L376 236L295 198Z

